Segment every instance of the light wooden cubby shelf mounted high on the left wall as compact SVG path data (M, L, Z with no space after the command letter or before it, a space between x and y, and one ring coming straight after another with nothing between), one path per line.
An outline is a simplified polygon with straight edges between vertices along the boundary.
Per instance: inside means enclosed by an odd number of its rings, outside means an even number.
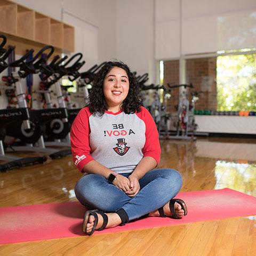
M11 0L0 0L1 33L18 47L17 53L49 44L58 52L75 51L74 27Z

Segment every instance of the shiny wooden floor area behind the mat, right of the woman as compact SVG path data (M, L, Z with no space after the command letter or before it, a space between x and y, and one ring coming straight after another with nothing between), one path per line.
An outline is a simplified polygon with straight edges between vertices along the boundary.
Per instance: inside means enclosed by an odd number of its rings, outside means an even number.
M231 188L256 194L256 140L163 140L161 166L182 173L182 190Z

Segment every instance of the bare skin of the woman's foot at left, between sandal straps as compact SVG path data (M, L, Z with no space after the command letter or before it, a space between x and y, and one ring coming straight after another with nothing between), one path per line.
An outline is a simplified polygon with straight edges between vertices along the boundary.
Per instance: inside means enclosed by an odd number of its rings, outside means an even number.
M105 213L108 217L108 223L106 228L114 228L118 225L121 224L121 219L119 217L119 215L117 213ZM103 217L101 214L97 213L98 215L98 223L97 226L95 227L95 230L98 230L102 227L103 225ZM86 234L90 234L92 229L93 229L93 225L94 225L94 221L95 221L95 217L93 215L89 215L87 224L86 224Z

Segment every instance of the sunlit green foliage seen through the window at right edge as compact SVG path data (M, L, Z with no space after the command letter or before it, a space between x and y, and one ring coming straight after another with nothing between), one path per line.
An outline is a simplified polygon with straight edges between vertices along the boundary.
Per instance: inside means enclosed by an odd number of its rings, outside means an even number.
M217 110L256 110L256 53L217 58ZM253 50L253 49L251 49ZM223 54L237 51L223 52ZM222 53L222 52L221 52Z

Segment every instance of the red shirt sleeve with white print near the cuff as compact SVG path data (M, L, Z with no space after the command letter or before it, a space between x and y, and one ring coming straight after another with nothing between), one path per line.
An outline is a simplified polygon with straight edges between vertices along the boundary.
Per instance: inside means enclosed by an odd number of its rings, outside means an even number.
M89 143L91 113L88 108L83 108L77 114L70 131L70 145L74 164L82 172L83 167L93 160Z

